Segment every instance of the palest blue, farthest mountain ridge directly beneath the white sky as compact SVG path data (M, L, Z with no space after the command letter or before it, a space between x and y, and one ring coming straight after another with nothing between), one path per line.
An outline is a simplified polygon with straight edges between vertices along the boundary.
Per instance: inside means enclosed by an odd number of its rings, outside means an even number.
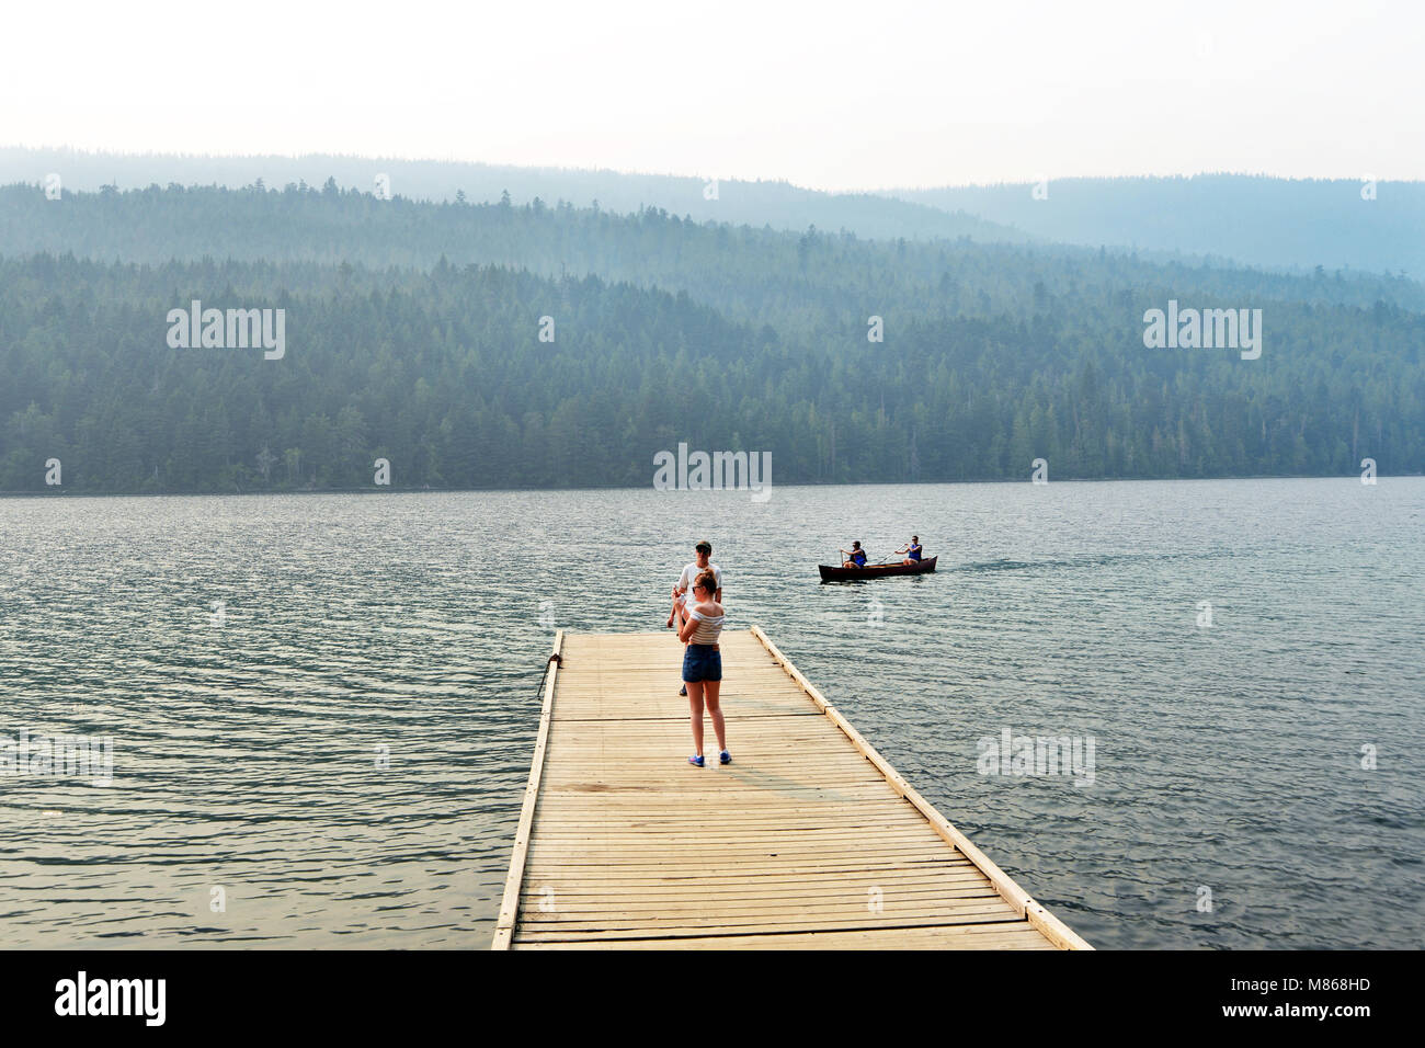
M1062 178L1035 184L899 188L832 194L785 181L720 180L440 160L184 157L0 147L0 185L38 185L58 174L67 190L151 184L268 188L335 178L415 201L513 204L540 198L579 208L637 214L661 208L717 221L802 232L854 232L868 240L962 240L1107 247L1159 261L1217 261L1282 271L1315 267L1425 278L1425 183L1288 180L1203 174L1191 178Z

